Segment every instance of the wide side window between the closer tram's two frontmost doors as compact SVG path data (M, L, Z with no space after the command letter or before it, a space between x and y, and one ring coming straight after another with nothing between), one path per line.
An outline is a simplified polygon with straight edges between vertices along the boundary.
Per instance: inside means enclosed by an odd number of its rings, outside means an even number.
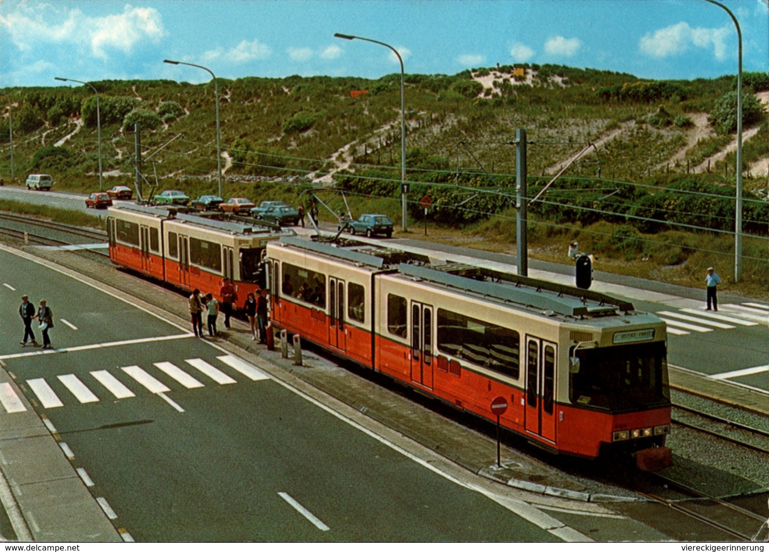
M517 331L443 308L438 309L438 351L514 379L521 377L521 336Z

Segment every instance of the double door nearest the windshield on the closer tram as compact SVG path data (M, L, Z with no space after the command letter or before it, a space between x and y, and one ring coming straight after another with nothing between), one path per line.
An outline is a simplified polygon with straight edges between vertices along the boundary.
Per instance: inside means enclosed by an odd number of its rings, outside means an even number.
M555 442L558 345L526 336L526 431Z

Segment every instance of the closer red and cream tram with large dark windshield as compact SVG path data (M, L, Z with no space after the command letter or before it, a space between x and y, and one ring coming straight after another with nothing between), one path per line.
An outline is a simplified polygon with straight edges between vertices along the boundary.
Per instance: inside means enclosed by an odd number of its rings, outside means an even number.
M360 243L267 256L278 328L489 420L504 397L501 424L553 452L664 445L665 324L627 301Z

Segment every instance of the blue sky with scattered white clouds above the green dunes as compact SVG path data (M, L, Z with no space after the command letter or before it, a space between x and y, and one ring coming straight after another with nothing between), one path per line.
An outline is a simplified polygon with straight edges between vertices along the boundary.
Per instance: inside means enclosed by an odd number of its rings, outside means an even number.
M769 70L767 0L725 0L743 70ZM407 73L554 63L641 78L737 72L737 33L704 0L0 0L0 87L169 78Z

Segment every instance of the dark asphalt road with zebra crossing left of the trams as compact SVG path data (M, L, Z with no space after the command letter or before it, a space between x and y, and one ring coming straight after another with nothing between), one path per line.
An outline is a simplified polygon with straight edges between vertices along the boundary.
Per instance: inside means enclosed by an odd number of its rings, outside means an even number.
M186 328L5 251L0 284L0 358L136 540L558 540Z

